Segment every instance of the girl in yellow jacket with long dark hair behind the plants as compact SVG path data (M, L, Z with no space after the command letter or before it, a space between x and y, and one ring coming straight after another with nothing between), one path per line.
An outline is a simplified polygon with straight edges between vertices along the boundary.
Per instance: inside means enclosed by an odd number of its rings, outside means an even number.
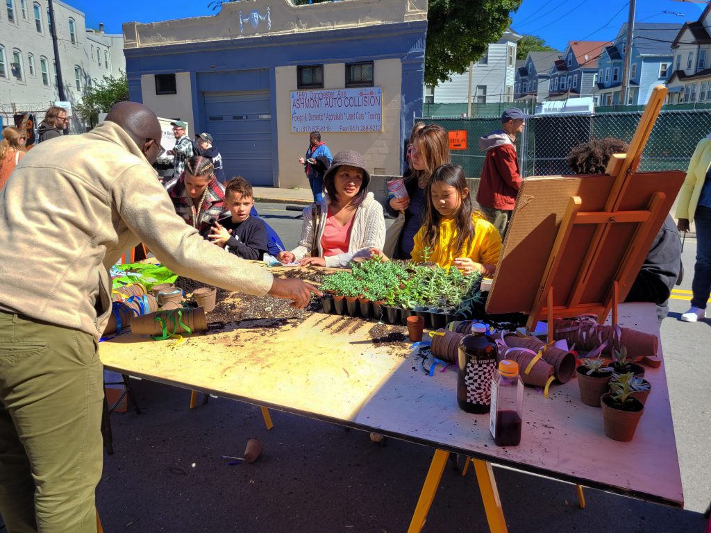
M472 209L464 169L451 163L440 166L432 173L425 195L429 201L415 235L412 260L493 276L501 256L501 236Z

